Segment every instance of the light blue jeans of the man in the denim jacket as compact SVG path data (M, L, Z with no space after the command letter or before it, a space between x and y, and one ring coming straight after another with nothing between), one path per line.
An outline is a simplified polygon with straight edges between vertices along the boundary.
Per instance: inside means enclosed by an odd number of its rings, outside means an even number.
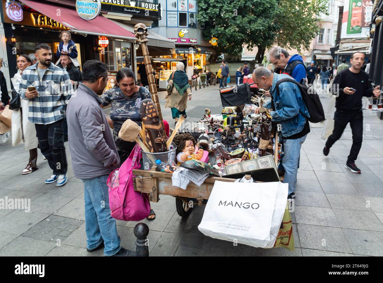
M301 146L307 135L294 140L283 139L283 169L285 169L285 178L283 183L288 183L288 193L295 191L296 176L298 174L299 157L301 155Z

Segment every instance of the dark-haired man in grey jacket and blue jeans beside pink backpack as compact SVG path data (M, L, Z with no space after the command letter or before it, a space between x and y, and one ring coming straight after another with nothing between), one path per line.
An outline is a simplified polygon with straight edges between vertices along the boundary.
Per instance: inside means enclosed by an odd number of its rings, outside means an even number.
M106 181L120 160L98 97L108 81L107 66L90 60L82 72L83 82L67 105L67 121L74 175L84 183L87 250L94 252L105 246L105 256L134 256L120 246L116 219L109 207Z

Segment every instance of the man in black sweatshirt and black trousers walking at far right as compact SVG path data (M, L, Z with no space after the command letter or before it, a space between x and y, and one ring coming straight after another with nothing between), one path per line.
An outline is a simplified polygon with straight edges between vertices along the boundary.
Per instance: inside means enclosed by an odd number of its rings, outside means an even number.
M380 96L380 86L372 89L368 83L368 74L362 71L364 63L364 54L355 52L352 54L351 67L345 69L334 79L333 86L339 88L339 96L336 98L334 114L334 130L327 139L326 146L323 148L324 155L328 155L331 146L339 140L347 123L350 123L352 131L352 146L350 155L347 157L345 168L353 173L360 173L360 169L355 166L355 160L358 158L360 148L362 147L363 135L363 114L362 97ZM338 92L336 92L338 93Z

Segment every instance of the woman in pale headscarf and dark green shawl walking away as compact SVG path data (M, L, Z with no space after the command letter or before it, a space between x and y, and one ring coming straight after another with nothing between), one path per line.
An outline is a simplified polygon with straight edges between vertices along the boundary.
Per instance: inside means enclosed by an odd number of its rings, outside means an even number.
M182 115L184 118L186 115L187 100L191 100L191 90L189 86L188 75L183 71L184 65L182 62L177 63L177 71L170 75L168 82L172 79L173 76L173 88L172 92L165 97L166 104L165 107L172 109L172 117L175 119L177 124L178 118Z

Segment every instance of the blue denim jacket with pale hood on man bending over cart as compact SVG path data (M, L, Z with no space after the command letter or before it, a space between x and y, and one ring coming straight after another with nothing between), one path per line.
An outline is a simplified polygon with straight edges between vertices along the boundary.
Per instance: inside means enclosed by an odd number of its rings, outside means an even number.
M280 95L278 95L275 86L280 79L286 77L291 79L288 75L274 73L270 94L274 99L275 111L270 112L270 115L273 122L279 122L282 125L283 137L290 137L303 130L304 124L310 115L296 84L282 82L279 85ZM265 107L271 108L271 101Z

